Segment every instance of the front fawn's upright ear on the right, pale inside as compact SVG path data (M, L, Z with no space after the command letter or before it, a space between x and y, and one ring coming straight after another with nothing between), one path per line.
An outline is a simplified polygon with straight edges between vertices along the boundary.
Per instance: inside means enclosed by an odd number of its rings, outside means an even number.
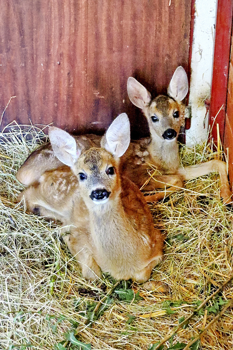
M101 147L117 157L121 157L129 147L130 125L126 113L120 114L106 131Z

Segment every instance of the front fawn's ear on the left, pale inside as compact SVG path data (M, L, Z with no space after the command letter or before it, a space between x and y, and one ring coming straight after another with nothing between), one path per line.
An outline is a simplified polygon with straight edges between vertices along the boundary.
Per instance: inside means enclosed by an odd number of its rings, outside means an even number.
M57 158L72 167L81 154L81 150L77 149L75 139L65 130L51 126L48 135Z

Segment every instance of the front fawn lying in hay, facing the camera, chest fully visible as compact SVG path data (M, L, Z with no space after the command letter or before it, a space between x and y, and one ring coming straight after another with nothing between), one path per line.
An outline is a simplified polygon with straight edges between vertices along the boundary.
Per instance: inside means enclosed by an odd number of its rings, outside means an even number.
M55 155L67 167L45 172L21 198L28 208L40 203L44 214L48 208L49 215L73 224L65 241L86 279L96 279L102 270L115 279L147 281L162 259L163 237L143 194L120 176L119 157L130 142L127 115L113 121L102 148L82 152L72 136L55 127L49 135Z

